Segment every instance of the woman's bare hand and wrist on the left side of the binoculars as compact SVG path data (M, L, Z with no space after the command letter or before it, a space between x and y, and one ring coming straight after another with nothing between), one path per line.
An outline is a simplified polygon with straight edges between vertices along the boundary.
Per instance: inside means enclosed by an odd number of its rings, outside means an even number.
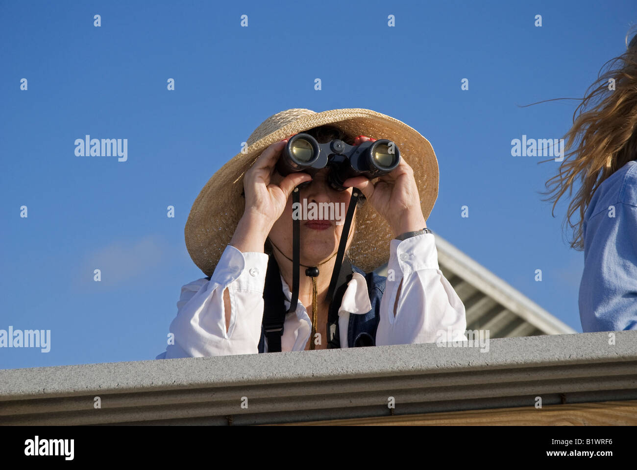
M272 225L281 217L292 190L310 181L307 173L274 174L276 162L288 139L268 146L243 175L245 210L230 245L241 252L263 252Z

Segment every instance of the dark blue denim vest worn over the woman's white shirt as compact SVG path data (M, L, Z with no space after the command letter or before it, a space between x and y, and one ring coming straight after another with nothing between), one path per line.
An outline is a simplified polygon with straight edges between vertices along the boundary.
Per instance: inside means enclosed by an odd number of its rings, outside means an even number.
M347 328L347 346L348 348L376 346L376 329L378 329L378 323L380 322L380 301L383 297L383 292L385 292L385 281L387 281L387 278L373 272L365 274L365 271L354 265L352 265L352 270L365 276L371 310L364 315L350 315ZM337 329L336 338L338 337L339 332ZM263 327L261 327L260 353L265 350L264 340L265 332Z

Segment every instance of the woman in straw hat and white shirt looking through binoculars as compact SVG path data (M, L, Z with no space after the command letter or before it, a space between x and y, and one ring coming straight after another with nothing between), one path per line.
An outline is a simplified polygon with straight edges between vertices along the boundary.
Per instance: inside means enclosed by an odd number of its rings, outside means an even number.
M401 163L376 182L349 178L343 191L328 183L327 167L313 177L282 176L276 162L287 138L299 132L319 143L338 138L350 145L371 139L360 134L383 134L398 146ZM209 276L182 287L169 345L158 359L429 343L441 336L447 341L448 327L450 339L466 340L464 306L438 267L426 228L438 192L438 164L427 139L371 110L292 109L265 120L247 143L192 206L186 244ZM347 207L359 190L365 200L348 234L336 220L301 221L298 303L290 309L290 194L302 183L308 183L299 190L305 203ZM347 257L328 298L341 236L347 236ZM369 272L388 258L387 279ZM318 276L306 267L317 267ZM272 327L268 318L278 312L285 317Z

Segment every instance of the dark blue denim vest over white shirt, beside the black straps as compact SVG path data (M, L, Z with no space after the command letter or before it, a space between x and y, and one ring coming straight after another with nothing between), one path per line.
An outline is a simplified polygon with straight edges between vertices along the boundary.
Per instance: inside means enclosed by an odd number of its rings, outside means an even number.
M378 322L380 322L380 300L385 292L385 276L379 276L373 272L365 274L364 271L358 267L352 265L352 271L359 273L365 277L367 281L367 290L369 295L369 303L371 304L371 310L363 314L350 314L350 320L347 327L347 345L349 348L357 348L360 346L375 346L376 345L376 329L378 328ZM348 280L351 277L348 277ZM336 325L336 332L334 334L333 341L329 341L327 348L340 348L340 332L338 327L338 308L341 306L343 300L343 294L347 288L347 283L336 291L332 305L330 306L331 315L330 318L336 320L333 324ZM337 315L334 315L334 314ZM329 322L327 331L329 331ZM259 341L259 353L264 352L265 349L265 332L263 325L261 325L261 340Z

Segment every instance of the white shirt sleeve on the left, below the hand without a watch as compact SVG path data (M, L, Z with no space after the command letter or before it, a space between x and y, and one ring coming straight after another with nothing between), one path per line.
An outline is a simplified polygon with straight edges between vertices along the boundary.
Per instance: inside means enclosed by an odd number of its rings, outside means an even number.
M242 253L227 245L210 281L204 278L182 287L169 329L175 344L168 345L165 359L258 353L267 267L266 253ZM231 304L227 331L225 288Z

